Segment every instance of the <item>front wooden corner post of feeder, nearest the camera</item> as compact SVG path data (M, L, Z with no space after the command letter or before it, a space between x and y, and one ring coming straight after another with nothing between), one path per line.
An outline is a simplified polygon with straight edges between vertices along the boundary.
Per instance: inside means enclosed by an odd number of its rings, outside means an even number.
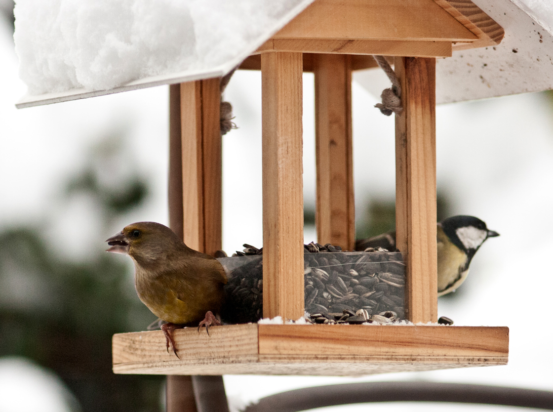
M302 54L264 53L263 316L304 315Z

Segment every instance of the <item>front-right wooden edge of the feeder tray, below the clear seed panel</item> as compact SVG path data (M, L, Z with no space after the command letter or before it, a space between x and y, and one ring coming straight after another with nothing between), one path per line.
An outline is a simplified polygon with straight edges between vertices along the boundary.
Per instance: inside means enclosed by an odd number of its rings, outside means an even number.
M328 325L259 325L259 354L324 353L391 361L398 357L501 357L508 353L508 341L503 339L507 328L325 326Z

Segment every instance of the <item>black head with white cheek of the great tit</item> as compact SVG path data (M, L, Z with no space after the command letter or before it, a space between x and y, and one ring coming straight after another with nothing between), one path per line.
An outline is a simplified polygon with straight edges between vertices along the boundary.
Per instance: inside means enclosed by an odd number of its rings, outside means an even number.
M489 230L486 223L474 216L448 217L439 225L451 242L470 257L476 253L487 238L499 236L499 233Z

